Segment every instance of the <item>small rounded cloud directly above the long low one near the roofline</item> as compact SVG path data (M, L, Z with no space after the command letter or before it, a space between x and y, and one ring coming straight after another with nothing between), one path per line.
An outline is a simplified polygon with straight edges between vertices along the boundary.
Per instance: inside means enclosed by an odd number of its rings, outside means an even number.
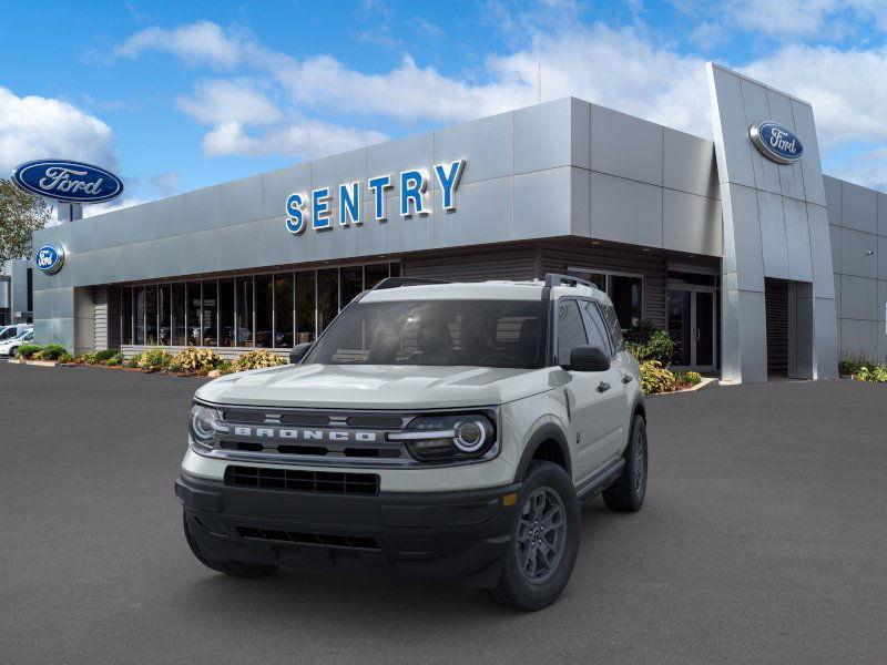
M281 110L247 81L198 81L191 96L179 98L179 108L203 124L234 121L265 124L281 120Z

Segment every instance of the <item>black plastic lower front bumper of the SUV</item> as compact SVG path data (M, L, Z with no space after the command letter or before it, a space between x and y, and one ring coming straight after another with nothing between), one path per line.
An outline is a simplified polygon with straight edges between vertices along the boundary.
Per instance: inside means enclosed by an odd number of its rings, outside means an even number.
M210 559L459 579L493 586L520 484L462 492L326 494L175 481L191 534Z

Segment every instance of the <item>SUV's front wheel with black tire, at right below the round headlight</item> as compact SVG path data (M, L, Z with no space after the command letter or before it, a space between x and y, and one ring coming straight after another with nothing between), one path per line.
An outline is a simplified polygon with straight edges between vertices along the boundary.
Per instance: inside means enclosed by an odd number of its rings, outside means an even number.
M560 529L534 531L541 520L532 518L540 512L540 505L541 514L550 515L547 522L557 524L560 513ZM558 464L534 461L527 470L518 507L501 577L497 586L485 590L485 594L516 610L542 610L563 592L579 554L580 510L573 481ZM548 544L546 550L537 544L541 542Z

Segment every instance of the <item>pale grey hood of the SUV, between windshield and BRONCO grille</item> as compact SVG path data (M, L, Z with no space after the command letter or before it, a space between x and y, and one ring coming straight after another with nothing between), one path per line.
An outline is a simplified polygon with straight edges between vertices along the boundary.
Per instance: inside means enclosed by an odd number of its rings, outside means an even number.
M552 387L550 369L289 365L221 377L196 397L227 405L411 410L495 406Z

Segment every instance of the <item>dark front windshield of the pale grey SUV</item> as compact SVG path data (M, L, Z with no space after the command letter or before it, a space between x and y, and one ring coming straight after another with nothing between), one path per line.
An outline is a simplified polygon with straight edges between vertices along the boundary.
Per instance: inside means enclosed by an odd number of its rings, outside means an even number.
M546 311L541 300L355 303L304 361L536 369L546 362Z

